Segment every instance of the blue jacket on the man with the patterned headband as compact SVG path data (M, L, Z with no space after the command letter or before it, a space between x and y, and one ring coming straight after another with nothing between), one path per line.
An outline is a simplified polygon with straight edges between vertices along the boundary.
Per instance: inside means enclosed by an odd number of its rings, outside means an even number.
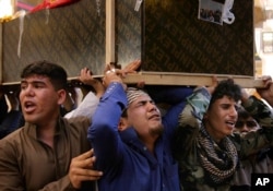
M191 94L186 88L185 95ZM171 98L171 97L170 97ZM178 124L181 102L163 118L164 133L151 154L133 128L119 132L118 123L127 106L127 95L120 83L111 83L100 99L88 129L88 140L95 151L96 168L104 171L99 191L180 191L178 166L171 156L171 136Z

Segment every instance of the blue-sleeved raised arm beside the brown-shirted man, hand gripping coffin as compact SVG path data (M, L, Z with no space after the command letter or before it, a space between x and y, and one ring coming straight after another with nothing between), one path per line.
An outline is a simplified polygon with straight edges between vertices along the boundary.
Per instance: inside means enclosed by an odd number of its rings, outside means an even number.
M126 85L116 72L105 73L104 85L106 92L99 100L87 133L95 150L96 168L103 171L120 160L122 142L118 124L121 112L127 106Z

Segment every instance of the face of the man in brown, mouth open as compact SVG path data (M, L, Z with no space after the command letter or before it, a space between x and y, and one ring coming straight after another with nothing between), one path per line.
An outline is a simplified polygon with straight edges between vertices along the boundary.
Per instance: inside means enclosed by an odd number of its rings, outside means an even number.
M56 91L47 76L31 75L21 81L20 103L27 122L46 126L59 115L64 89Z

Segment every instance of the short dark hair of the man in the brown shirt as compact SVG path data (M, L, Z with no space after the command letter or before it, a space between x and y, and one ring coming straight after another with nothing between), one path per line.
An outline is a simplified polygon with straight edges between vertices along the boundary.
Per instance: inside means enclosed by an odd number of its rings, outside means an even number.
M57 63L47 60L29 63L23 69L21 79L28 77L33 74L48 76L55 89L67 88L68 74L66 70Z

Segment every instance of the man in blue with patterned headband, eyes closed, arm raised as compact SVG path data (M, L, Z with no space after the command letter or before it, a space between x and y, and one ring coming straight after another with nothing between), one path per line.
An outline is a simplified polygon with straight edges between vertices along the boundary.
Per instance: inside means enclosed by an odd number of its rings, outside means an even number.
M99 191L179 191L171 138L192 89L170 91L180 102L162 117L149 94L127 88L117 72L106 72L104 85L106 92L88 129L96 168L104 171Z

